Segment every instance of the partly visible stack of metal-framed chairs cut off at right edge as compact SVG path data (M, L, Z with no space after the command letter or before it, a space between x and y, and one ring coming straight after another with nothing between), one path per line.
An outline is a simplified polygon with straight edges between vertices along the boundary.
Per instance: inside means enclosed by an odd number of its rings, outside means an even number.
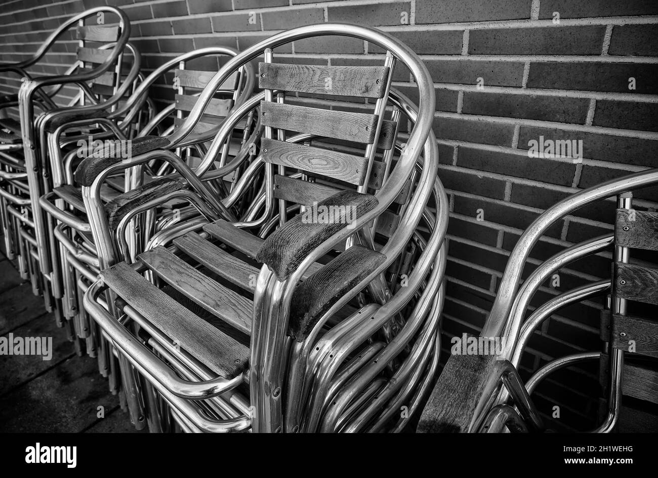
M655 426L658 350L651 337L656 336L658 325L655 320L632 316L629 312L641 310L638 304L642 303L658 305L658 269L629 261L636 253L631 250L658 250L658 215L632 209L630 194L632 190L656 183L658 169L650 169L592 186L547 209L526 229L509 257L492 311L480 334L480 340L490 343L490 351L496 350L492 339L498 339L504 345L502 353L452 355L422 412L419 431L544 431L544 420L530 395L555 370L587 360L601 362L602 413L594 432L609 433L615 429L623 415L622 395L653 406ZM575 244L553 255L519 287L532 247L551 225L580 207L611 196L617 196L618 207L614 234ZM611 279L557 295L525 318L534 293L555 272L572 261L611 249L614 261ZM562 307L607 292L611 297L601 316L603 352L586 351L551 360L523 383L518 368L524 349L545 320ZM624 364L624 356L630 363Z

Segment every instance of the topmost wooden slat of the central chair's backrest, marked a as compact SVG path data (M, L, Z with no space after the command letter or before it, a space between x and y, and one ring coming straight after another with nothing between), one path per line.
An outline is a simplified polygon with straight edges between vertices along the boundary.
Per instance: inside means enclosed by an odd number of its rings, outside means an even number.
M259 87L343 97L382 98L388 66L259 63Z

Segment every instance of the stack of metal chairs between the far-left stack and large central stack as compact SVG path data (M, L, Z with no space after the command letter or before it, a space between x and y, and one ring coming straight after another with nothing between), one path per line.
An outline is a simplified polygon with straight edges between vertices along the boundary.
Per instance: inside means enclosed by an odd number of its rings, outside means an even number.
M157 242L164 230L185 219L188 194L180 189L184 179L176 168L182 167L183 176L192 177L192 181L199 182L194 176L194 165L201 161L200 158L206 157L209 141L215 137L224 117L232 108L244 102L253 91L255 83L253 68L246 65L238 68L219 87L211 85L212 90L208 90L211 100L195 117L197 121L201 120L195 130L185 138L179 137L170 141L172 132L181 121L185 121L183 115L193 108L196 95L199 95L199 91L206 87L216 73L216 70L188 70L186 64L204 61L206 64L210 62L217 65L220 59L218 56L225 58L236 54L236 51L226 47L209 47L182 54L143 79L138 89L114 112L99 118L88 116L84 120L63 124L47 135L51 158L49 171L53 181L51 191L39 199L39 206L44 213L45 230L50 234L51 242L45 242L45 246L52 265L53 294L56 299L61 299L64 320L72 324L76 341L86 342L89 355L99 358L101 374L109 376L113 391L118 389L119 383L116 367L113 366L111 347L95 333L93 323L89 324L88 316L82 308L82 293L97 278L101 259L90 234L91 227L86 217L80 185L91 183L95 174L107 165L128 161L134 156L149 155L150 159L143 165L123 168L115 175L107 177L99 194L102 206L109 212L110 227L114 230L126 211L138 207L153 195L174 193L170 194L168 204L159 213L140 217L139 221L126 224L131 238L130 255L133 257L145 244L149 244L149 240ZM171 74L178 92L174 102L153 114L135 137L128 139L124 131L134 125L134 118L143 110L149 87L156 81L164 81L164 76ZM61 154L58 144L66 129L99 122L107 123L114 132L113 137L93 136L100 139L103 148L83 148ZM255 137L251 137L253 122L253 114L249 114L230 130L230 135L220 149L220 154L216 155L218 158L213 165L221 167L227 159L240 154L245 144L255 141ZM151 135L158 133L158 130L159 135ZM84 142L89 144L88 141ZM245 154L248 156L248 149ZM247 163L248 160L249 158ZM94 167L88 167L90 162L94 163ZM78 172L74 174L73 169L76 166ZM213 194L215 191L226 192L237 177L237 173L228 177L218 176L214 181L201 186L209 188L209 194L210 191L213 191ZM209 207L212 207L212 204ZM101 247L101 250L104 249ZM138 416L139 413L134 413L132 418ZM139 420L135 422L139 424Z

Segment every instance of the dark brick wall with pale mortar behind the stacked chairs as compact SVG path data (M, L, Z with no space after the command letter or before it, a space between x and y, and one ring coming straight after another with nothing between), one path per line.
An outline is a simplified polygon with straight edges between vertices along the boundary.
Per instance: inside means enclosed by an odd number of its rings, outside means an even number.
M103 0L3 1L0 60L34 51L67 16ZM424 60L436 88L434 131L440 177L450 194L448 297L444 351L462 332L476 334L491 307L520 232L546 207L579 188L658 167L658 3L650 0L107 0L133 24L132 41L152 70L175 53L207 45L244 49L278 30L316 22L378 26ZM70 64L74 42L49 55L43 72ZM363 41L323 38L280 49L277 58L317 64L380 60ZM292 61L292 60L291 60ZM633 78L634 80L630 80ZM17 79L0 77L0 92ZM395 87L409 92L406 72ZM631 85L630 81L634 84ZM634 89L630 89L629 86ZM163 98L165 90L156 89ZM300 98L303 102L305 98ZM528 158L529 141L582 140L582 158ZM655 207L657 188L638 191ZM555 227L532 253L555 251L611 230L612 201L586 207ZM479 213L479 216L478 216ZM610 255L560 271L537 299L607 276ZM538 300L536 303L540 303ZM546 360L599 349L601 300L568 307L544 324L522 362L524 376ZM561 406L554 427L592 427L596 366L567 370L540 387L542 410ZM558 383L559 382L559 383Z

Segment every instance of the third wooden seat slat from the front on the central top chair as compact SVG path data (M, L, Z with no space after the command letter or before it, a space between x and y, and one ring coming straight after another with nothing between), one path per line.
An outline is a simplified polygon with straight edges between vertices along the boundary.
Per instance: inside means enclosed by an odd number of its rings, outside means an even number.
M195 232L174 239L174 244L224 279L249 292L256 288L259 270L218 248Z

